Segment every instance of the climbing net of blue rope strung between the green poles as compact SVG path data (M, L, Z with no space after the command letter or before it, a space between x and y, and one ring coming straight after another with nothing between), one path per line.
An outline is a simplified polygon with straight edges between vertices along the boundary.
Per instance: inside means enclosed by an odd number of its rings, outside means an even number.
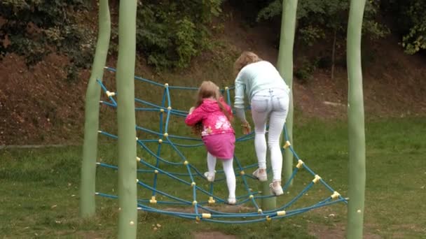
M105 67L105 69L112 73L116 72L116 69L114 68ZM247 209L248 207L245 207L246 212L241 212L241 210L240 212L225 212L224 210L221 211L221 208L215 205L226 204L227 200L226 197L220 196L220 192L219 194L217 193L217 191L220 191L220 189L218 190L217 187L214 187L214 185L224 181L225 179L224 177L217 177L214 182L207 182L207 179L203 173L201 173L201 171L197 168L196 163L198 163L198 165L205 165L205 156L207 154L205 150L202 150L204 149L204 145L201 139L174 135L169 131L172 116L186 117L188 114L186 110L177 110L172 108L170 92L175 90L196 91L198 90L198 87L172 86L168 85L167 83L163 85L158 82L154 82L153 80L147 80L137 76L135 76L135 80L145 82L149 84L150 87L159 87L159 89L163 91L160 104L135 98L135 104L137 105L135 110L158 113L160 118L159 127L157 130L147 129L143 126L136 125L136 130L138 132L144 136L152 136L151 138L136 138L137 145L141 147L143 152L142 154L144 155L143 157L140 156L135 159L139 162L139 167L137 169L138 179L136 183L142 187L142 190L145 192L145 197L138 199L138 210L143 210L146 212L158 212L164 215L172 215L186 219L195 219L197 221L202 220L207 222L235 224L270 221L272 219L291 217L302 212L307 212L315 208L320 208L335 203L348 203L347 198L343 198L341 194L331 188L329 184L325 182L325 180L312 171L312 169L310 169L305 164L305 162L303 162L301 158L298 157L298 154L296 154L288 140L287 130L284 126L285 143L282 147L282 150L291 151L291 153L294 155L294 159L296 160L296 166L294 167L289 180L285 182L283 190L287 191L288 193L292 180L294 180L296 173L301 170L307 171L311 175L312 178L310 178L310 181L305 182L303 189L292 196L290 201L283 203L283 205L277 206L274 210L262 210L261 206L259 205L259 201L275 196L271 194L262 194L261 191L255 191L252 189L252 187L250 187L250 182L257 185L259 184L257 183L259 181L257 181L256 178L251 175L251 173L245 173L245 171L250 171L252 168L257 168L257 164L244 166L242 162L246 160L240 160L237 155L235 155L235 173L239 184L242 186L242 189L239 190L242 191L242 193L238 194L237 196L237 205L249 205L250 207L249 209ZM118 96L118 93L110 92L104 83L102 83L100 80L97 80L97 82L102 87L102 91L108 99L107 101L100 101L100 103L111 108L116 108L117 103L115 97ZM224 89L221 89L222 94L224 94L230 106L232 90L233 87L225 87ZM181 119L181 122L183 121L184 119ZM116 135L108 133L107 131L99 130L98 132L109 138L118 138ZM253 138L253 133L238 137L236 139L235 152L241 150L239 145L245 141L252 140ZM165 145L170 146L170 151L172 151L172 153L165 155ZM154 152L155 150L153 150L153 147L156 147L156 152ZM192 162L183 153L185 150L188 153L191 152L188 151L191 150L191 148L201 148L199 150L200 154L204 152L204 154L197 156L197 162ZM191 153L193 154L194 151ZM166 158L166 156L172 157L172 154L175 156L173 159ZM97 162L97 166L111 168L114 170L118 169L117 166L113 164L107 164L102 161ZM217 175L223 176L224 172L218 170ZM165 181L163 182L163 184L165 184L163 190L159 187L161 183L160 179ZM174 182L175 184L172 185L171 182ZM323 187L325 187L326 191L330 192L330 194L326 194L328 196L320 198L319 202L315 202L301 208L292 208L291 206L294 205L298 199L302 198L303 195L306 195L308 190L310 190L315 184L321 184ZM226 188L226 186L224 187ZM191 189L191 194L184 194L182 188ZM102 192L96 192L96 195L107 198L117 198L116 195ZM281 197L285 197L287 199L288 196L284 194L283 196L280 196L280 198ZM166 206L168 206L168 208L166 208ZM170 208L170 206L174 208ZM181 210L182 207L189 207L191 210Z

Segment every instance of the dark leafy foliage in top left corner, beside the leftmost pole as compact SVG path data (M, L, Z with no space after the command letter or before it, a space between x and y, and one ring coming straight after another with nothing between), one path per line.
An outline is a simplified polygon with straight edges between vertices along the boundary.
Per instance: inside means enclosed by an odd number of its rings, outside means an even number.
M50 52L60 52L69 55L74 68L90 66L94 38L77 18L85 8L83 0L0 1L1 55L15 52L32 65Z

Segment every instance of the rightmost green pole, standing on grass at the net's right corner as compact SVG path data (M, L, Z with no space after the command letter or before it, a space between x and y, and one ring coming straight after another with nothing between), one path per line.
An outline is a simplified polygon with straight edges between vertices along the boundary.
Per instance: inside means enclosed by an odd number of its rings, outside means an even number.
M365 195L365 128L361 34L365 0L351 0L348 20L349 203L347 238L362 238Z

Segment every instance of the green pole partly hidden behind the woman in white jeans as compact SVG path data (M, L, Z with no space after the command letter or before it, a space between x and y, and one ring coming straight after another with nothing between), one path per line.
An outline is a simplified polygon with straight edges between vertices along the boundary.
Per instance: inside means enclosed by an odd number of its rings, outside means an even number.
M284 0L282 3L280 52L278 53L277 68L287 85L290 87L289 114L287 115L287 133L289 141L293 142L293 48L294 32L296 30L297 0ZM284 182L291 177L293 169L293 154L290 150L284 151L283 161Z

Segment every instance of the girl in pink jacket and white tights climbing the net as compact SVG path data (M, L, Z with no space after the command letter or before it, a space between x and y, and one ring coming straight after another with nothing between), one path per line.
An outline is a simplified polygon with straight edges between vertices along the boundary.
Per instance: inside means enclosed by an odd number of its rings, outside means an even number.
M201 135L207 148L207 168L204 175L209 182L214 181L216 159L222 159L226 184L228 184L228 203L233 205L235 199L235 173L233 155L235 149L235 132L231 126L232 111L219 93L219 87L211 81L202 82L198 89L195 107L189 110L185 119L188 126L193 126L195 133Z

